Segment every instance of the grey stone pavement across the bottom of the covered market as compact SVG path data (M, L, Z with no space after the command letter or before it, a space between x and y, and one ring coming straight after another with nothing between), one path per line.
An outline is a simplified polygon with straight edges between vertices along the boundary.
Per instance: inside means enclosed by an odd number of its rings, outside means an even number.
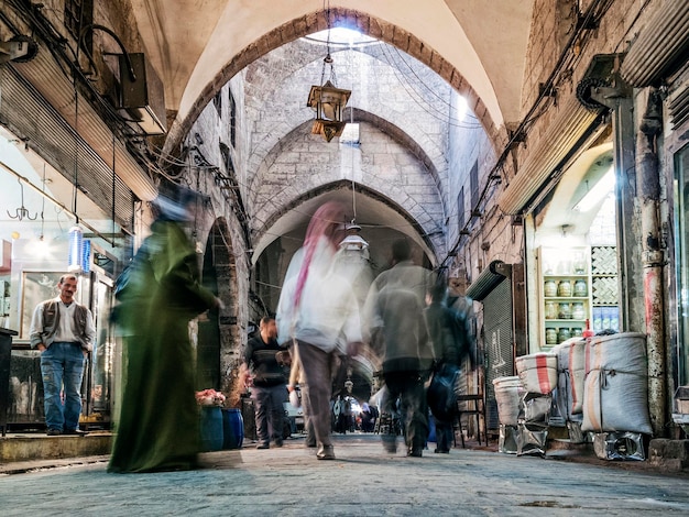
M0 475L3 516L656 516L689 515L688 477L492 450L383 451L336 437L337 460L303 440L201 454L203 469L108 474L107 457ZM433 448L433 444L431 444Z

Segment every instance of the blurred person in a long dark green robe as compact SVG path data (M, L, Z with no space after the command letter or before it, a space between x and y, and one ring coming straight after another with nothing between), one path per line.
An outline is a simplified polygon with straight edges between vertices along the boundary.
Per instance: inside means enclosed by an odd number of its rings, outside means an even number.
M123 336L123 393L109 472L196 466L199 409L188 323L222 302L199 283L194 221L199 195L173 185L152 208L156 219L118 295Z

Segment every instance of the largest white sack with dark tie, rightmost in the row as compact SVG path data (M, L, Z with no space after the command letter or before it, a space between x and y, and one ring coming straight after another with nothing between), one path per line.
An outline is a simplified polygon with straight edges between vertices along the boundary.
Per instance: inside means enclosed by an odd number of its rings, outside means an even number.
M581 430L650 435L646 337L623 332L591 338L586 364Z

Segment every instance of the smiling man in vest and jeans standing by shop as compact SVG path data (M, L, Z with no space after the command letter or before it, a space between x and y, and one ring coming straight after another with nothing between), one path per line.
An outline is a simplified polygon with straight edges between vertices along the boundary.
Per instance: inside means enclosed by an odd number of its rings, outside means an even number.
M77 285L76 275L63 275L59 296L39 304L31 319L31 348L41 351L48 436L84 433L79 430L84 358L92 350L96 330L91 311L74 299Z

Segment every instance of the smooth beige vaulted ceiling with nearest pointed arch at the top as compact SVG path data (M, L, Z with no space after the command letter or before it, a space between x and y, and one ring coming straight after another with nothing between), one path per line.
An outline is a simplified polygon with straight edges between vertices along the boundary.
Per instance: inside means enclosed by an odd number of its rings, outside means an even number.
M174 145L222 84L271 50L326 29L321 0L132 0L146 53L176 114ZM346 0L344 23L419 58L475 96L494 128L520 118L532 0ZM481 113L480 113L481 114Z

